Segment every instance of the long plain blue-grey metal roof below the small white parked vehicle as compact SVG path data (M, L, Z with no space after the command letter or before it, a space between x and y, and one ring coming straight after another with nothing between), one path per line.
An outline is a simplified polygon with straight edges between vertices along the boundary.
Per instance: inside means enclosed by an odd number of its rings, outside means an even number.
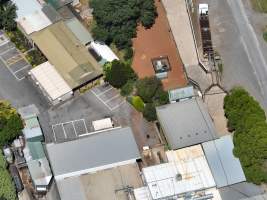
M55 176L140 158L131 128L116 128L46 145Z

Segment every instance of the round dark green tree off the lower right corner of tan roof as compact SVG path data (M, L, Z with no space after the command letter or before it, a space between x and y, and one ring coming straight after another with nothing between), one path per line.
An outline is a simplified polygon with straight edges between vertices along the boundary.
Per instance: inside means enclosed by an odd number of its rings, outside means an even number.
M136 79L136 74L129 64L114 60L104 66L105 81L115 88L121 88L128 80Z

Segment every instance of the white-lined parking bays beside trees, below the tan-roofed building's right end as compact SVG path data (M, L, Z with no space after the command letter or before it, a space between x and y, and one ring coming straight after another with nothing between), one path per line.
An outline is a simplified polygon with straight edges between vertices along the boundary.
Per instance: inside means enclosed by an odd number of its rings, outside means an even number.
M91 92L110 110L119 108L125 99L119 91L111 85L100 85L91 89Z

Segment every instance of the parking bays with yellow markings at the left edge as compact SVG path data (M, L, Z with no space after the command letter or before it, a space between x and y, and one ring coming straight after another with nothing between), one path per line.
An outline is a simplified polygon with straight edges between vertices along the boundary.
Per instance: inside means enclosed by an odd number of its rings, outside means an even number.
M32 68L15 45L3 33L0 33L0 59L18 81L24 79Z

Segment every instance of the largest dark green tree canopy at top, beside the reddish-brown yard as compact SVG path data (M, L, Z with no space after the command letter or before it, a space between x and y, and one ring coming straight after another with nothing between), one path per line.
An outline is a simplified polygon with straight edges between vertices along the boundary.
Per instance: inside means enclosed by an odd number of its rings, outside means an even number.
M139 22L149 28L157 16L153 0L91 0L90 6L96 22L94 38L114 42L119 49L131 46Z

